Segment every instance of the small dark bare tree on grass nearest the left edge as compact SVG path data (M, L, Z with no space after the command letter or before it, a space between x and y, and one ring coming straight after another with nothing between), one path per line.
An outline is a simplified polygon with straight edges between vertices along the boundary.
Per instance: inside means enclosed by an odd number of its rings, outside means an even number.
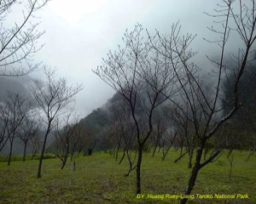
M13 153L13 145L17 130L28 111L30 111L31 104L20 94L9 92L7 99L1 107L1 116L6 128L6 138L9 140L9 160L10 165L11 156Z

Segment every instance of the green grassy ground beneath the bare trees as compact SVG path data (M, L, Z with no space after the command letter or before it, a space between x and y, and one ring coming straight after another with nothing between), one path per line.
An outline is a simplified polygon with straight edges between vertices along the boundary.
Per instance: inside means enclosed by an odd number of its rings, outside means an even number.
M114 161L113 156L96 153L76 159L61 170L58 159L44 160L42 178L36 178L38 161L13 161L11 166L0 162L0 203L177 203L166 194L181 195L187 184L190 169L188 158L173 163L178 153L172 151L161 161L160 154L152 158L143 155L142 190L148 195L164 199L137 199L135 172L124 177L128 162ZM234 168L229 178L229 161L225 153L214 163L204 167L197 179L188 203L256 203L256 157L245 161L246 152L234 153ZM248 194L249 199L199 199L196 194Z

